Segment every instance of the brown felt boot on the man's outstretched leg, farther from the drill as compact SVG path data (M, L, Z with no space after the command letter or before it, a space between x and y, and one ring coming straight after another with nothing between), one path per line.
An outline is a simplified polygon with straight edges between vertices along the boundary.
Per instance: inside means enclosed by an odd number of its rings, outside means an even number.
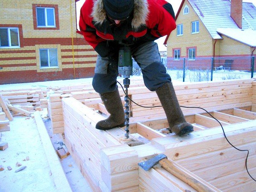
M180 137L194 131L193 126L185 120L172 83L164 84L156 93L166 113L170 129Z

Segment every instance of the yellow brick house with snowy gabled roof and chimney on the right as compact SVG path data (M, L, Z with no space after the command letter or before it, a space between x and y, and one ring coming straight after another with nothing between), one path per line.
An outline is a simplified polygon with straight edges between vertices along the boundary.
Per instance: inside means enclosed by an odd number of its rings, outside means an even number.
M249 70L256 54L256 7L242 0L182 0L167 36L167 66ZM223 58L223 59L221 59ZM239 59L236 59L239 58Z

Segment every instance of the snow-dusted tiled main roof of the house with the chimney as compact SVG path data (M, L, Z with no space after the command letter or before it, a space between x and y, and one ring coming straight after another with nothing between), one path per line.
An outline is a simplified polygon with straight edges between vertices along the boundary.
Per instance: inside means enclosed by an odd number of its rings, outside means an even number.
M214 39L221 39L217 28L239 29L230 17L230 0L188 0ZM182 5L181 5L182 6ZM256 30L256 7L243 3L243 29Z

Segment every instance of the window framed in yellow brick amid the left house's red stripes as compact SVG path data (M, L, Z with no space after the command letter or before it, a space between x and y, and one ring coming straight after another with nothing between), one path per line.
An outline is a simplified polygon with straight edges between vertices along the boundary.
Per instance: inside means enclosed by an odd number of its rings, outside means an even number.
M57 49L39 49L40 67L58 67Z

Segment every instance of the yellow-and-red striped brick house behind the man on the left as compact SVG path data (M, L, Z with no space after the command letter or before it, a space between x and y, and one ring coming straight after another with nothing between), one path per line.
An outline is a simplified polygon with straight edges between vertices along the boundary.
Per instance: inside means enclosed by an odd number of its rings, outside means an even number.
M0 84L92 77L96 52L76 33L74 0L1 0Z

